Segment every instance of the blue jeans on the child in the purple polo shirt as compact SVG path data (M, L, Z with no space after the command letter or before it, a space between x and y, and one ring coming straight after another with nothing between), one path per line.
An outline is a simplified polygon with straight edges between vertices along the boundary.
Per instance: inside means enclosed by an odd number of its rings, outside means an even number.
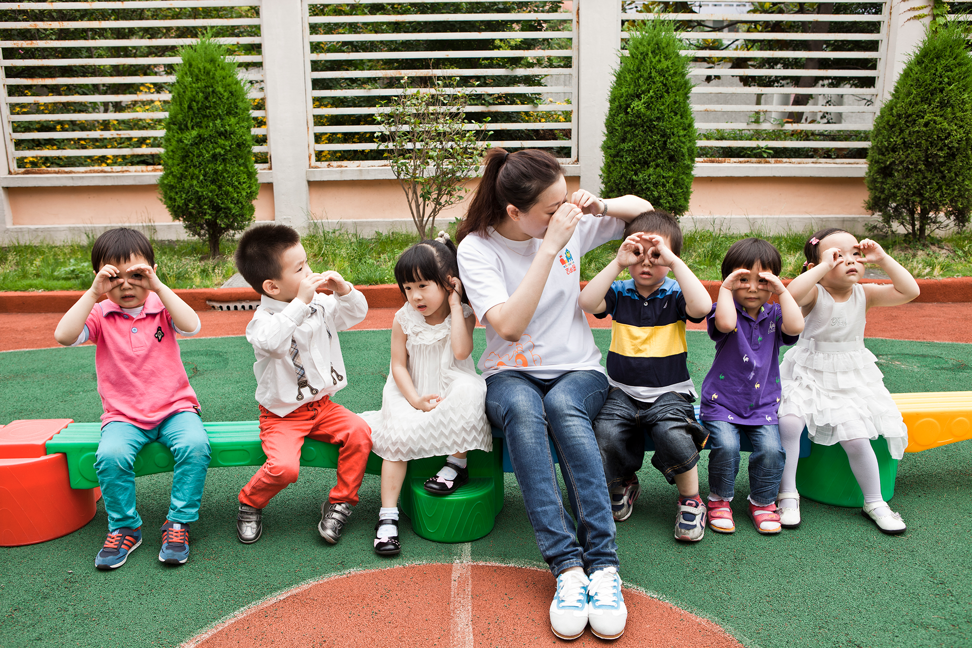
M739 474L739 435L749 437L749 499L756 506L773 504L780 492L786 452L779 425L736 425L724 420L703 421L709 430L709 492L719 499L735 495Z

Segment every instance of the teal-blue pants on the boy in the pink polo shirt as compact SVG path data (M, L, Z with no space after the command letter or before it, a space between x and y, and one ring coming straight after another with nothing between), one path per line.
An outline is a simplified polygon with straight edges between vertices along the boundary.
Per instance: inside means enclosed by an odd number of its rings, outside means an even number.
M132 466L139 450L153 441L172 450L176 460L172 500L166 520L195 522L199 519L202 486L209 467L209 437L199 414L178 412L151 430L116 420L101 430L94 462L108 513L109 531L142 525L142 517L135 510L135 471Z

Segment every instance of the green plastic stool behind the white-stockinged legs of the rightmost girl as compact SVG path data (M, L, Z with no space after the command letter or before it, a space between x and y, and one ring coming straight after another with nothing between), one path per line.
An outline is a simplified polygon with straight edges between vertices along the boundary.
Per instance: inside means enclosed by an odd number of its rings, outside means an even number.
M878 456L881 473L881 495L885 502L894 496L894 478L898 460L891 458L887 442L879 437L871 442ZM851 472L847 452L840 444L820 446L811 443L810 456L800 459L796 469L796 489L800 495L831 506L859 509L864 506L864 493Z

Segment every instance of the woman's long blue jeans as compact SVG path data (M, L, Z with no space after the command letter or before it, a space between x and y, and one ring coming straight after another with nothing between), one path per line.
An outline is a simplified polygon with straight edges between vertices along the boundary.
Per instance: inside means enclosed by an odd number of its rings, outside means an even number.
M504 371L486 378L486 414L503 428L540 555L554 576L569 567L590 573L618 566L608 486L591 429L607 397L608 378L601 372L575 371L544 380ZM561 499L548 434L575 524Z

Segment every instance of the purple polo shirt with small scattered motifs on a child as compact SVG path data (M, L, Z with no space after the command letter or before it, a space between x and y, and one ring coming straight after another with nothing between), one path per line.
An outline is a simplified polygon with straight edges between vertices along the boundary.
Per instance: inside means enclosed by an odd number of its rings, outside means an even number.
M715 305L709 313L709 337L715 341L715 360L702 381L702 420L724 420L739 425L777 425L780 408L780 347L795 344L800 336L781 330L779 304L760 306L753 320L736 305L736 329L715 328Z

